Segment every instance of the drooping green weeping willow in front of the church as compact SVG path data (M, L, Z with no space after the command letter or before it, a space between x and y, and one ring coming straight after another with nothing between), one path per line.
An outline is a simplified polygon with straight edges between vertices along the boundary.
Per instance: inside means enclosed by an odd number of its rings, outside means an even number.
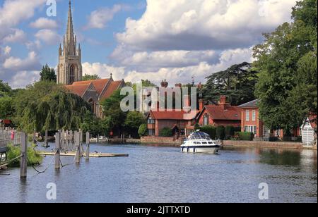
M42 81L20 91L15 99L19 128L27 132L78 130L90 105L54 82Z

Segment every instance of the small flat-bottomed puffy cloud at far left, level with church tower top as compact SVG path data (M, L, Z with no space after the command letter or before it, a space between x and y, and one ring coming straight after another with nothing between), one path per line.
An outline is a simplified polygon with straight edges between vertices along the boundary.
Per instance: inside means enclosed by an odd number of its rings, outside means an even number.
M8 57L5 59L3 67L6 70L39 70L41 65L38 59L37 54L34 51L28 54L28 57L25 59L17 57Z

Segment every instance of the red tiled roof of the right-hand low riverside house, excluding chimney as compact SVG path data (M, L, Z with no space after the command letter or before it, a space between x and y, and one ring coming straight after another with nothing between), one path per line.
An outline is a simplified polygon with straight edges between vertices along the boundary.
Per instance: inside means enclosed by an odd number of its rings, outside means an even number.
M204 106L199 117L204 111L207 111L213 120L241 120L241 109L237 106L227 106L226 109L224 109L224 106Z

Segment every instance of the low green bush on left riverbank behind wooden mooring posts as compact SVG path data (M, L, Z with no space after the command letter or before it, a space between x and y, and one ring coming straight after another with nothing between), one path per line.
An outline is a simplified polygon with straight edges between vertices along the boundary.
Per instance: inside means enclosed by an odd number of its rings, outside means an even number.
M16 157L20 156L21 149L20 147L13 146L11 144L8 145L8 161L11 159L15 159ZM37 165L42 162L43 157L37 154L37 151L35 151L32 147L28 147L28 166ZM20 158L16 159L15 161L12 161L8 164L8 166L18 167L20 166Z

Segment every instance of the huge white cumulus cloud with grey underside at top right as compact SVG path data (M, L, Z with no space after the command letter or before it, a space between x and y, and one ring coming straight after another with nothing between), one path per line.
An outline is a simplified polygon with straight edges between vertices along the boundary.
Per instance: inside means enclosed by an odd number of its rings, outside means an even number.
M290 20L296 0L147 0L139 20L126 20L119 42L134 49L236 49Z

